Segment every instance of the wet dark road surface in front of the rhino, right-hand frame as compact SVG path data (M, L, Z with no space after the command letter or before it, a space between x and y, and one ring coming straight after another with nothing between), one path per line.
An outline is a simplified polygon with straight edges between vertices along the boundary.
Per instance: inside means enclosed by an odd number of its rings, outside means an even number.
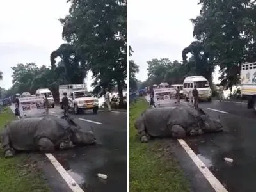
M186 138L186 143L228 191L255 191L256 116L253 111L237 102L212 100L199 105L213 118L220 115L225 132ZM225 157L234 159L234 163L225 162Z

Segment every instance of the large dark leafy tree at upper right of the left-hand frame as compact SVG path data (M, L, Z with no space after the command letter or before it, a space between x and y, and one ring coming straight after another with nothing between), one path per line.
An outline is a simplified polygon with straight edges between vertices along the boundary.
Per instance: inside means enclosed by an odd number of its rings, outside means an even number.
M63 40L74 46L86 70L92 70L98 88L116 84L122 89L127 76L126 1L69 0L70 14L60 19Z

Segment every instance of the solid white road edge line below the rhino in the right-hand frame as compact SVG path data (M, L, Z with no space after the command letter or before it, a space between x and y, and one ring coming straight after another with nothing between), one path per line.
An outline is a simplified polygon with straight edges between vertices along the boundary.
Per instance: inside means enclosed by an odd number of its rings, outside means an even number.
M207 179L208 182L211 184L212 188L214 188L216 192L228 192L227 189L225 189L224 186L221 184L221 182L218 179L216 179L216 177L211 173L211 171L199 159L199 157L196 156L196 154L193 152L193 150L191 150L188 144L182 139L179 139L178 141L180 145L184 148L184 150L187 152L189 157L196 164L200 172L203 173L205 179Z

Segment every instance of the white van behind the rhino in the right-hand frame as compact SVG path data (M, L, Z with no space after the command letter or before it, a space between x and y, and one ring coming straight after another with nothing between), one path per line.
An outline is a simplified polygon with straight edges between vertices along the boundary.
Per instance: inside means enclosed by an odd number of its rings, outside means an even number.
M189 100L188 94L193 90L195 85L198 90L200 100L212 100L212 90L209 86L209 81L203 76L189 76L184 79L183 92L186 100Z

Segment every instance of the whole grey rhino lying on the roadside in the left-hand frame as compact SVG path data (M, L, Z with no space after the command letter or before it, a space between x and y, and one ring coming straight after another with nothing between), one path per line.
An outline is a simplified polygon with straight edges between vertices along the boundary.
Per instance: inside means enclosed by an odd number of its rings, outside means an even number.
M84 131L72 118L44 116L24 118L6 124L1 133L5 157L20 152L54 152L76 145L96 143L92 131Z

